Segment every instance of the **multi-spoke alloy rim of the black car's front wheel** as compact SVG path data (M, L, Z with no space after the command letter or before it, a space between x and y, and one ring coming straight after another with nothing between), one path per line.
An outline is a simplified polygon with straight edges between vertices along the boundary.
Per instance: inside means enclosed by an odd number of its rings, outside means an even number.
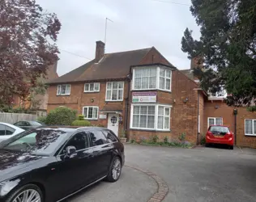
M41 202L41 196L38 191L34 189L27 189L19 193L13 202Z

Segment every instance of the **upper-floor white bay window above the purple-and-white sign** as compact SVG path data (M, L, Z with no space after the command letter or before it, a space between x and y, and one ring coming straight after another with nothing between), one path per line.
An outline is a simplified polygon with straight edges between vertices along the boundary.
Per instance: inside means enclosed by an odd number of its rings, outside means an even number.
M137 67L133 71L133 90L171 91L172 71L162 67Z

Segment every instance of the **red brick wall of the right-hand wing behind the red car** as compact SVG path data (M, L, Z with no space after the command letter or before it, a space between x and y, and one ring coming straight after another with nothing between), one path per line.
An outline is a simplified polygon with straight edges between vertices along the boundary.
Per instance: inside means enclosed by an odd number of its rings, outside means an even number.
M223 124L228 125L235 133L234 107L228 107L221 101L206 101L204 107L204 128L203 133L207 133L207 117L222 117ZM256 137L245 136L245 119L256 119L255 112L248 112L245 107L238 107L237 113L237 145L256 148Z

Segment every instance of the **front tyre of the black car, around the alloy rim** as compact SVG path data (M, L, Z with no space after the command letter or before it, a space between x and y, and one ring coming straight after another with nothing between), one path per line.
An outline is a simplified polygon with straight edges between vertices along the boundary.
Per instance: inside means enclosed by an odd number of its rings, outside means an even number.
M27 192L26 192L27 191ZM18 198L23 196L23 194L28 193L28 199L26 202L35 201L36 198L38 198L40 202L44 202L44 196L40 189L40 187L37 187L35 184L27 184L23 187L19 187L19 189L11 192L11 195L7 198L6 202L14 202L19 201ZM33 196L32 196L33 194ZM29 196L32 196L31 200L29 200ZM20 199L20 198L19 198ZM22 200L20 200L22 201Z

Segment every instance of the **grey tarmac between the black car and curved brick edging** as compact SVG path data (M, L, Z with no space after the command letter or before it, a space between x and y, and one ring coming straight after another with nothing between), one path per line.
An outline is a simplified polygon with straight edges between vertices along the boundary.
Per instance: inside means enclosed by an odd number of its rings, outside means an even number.
M130 167L124 167L116 183L100 182L71 197L70 202L139 202L147 201L157 190L157 184L149 175Z

